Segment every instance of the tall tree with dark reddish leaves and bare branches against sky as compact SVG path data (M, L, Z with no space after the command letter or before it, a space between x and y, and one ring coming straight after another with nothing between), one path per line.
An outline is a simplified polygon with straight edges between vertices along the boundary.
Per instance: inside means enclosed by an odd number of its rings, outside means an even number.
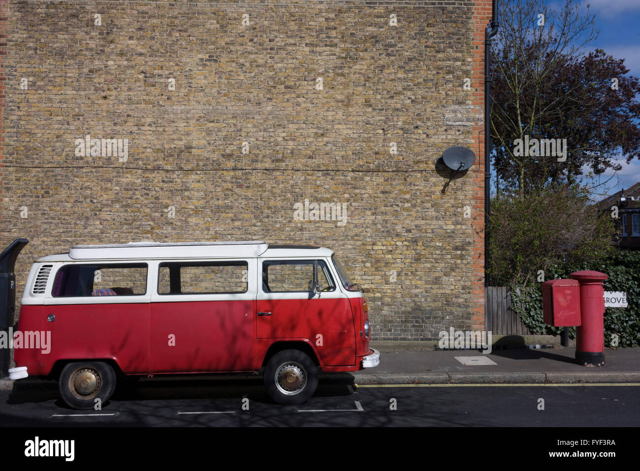
M595 17L581 16L573 0L559 12L546 0L505 0L500 17L491 138L502 190L524 197L532 188L572 185L584 167L595 174L620 170L613 160L618 149L627 162L640 158L638 79L602 49L581 53L598 35ZM566 160L536 149L519 155L515 142L525 136L566 139Z

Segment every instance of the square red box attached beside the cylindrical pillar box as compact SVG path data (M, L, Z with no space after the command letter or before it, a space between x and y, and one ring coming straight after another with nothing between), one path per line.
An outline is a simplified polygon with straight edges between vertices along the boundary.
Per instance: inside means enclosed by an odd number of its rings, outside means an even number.
M550 279L542 283L545 324L580 325L580 284L575 279Z

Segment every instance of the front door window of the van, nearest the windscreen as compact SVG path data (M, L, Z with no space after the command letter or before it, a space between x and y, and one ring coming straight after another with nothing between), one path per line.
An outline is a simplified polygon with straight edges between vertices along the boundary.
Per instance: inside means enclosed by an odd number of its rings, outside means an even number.
M318 283L322 291L335 290L326 263L318 260ZM262 263L262 291L308 293L313 291L314 260L277 260Z

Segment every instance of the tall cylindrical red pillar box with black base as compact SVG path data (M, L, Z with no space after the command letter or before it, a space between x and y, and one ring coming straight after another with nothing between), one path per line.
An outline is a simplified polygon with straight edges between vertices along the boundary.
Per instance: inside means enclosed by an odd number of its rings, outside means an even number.
M604 281L609 276L593 270L569 275L580 283L582 324L575 331L575 361L586 367L604 366Z

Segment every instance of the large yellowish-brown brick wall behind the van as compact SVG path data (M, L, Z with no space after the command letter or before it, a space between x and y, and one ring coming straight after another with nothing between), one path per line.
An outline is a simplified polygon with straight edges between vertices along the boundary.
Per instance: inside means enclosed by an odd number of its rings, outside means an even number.
M490 15L490 1L0 0L0 242L30 241L19 295L33 258L74 244L266 240L338 252L374 338L482 326ZM452 145L477 160L450 180L436 161ZM305 199L346 219L294 217Z

